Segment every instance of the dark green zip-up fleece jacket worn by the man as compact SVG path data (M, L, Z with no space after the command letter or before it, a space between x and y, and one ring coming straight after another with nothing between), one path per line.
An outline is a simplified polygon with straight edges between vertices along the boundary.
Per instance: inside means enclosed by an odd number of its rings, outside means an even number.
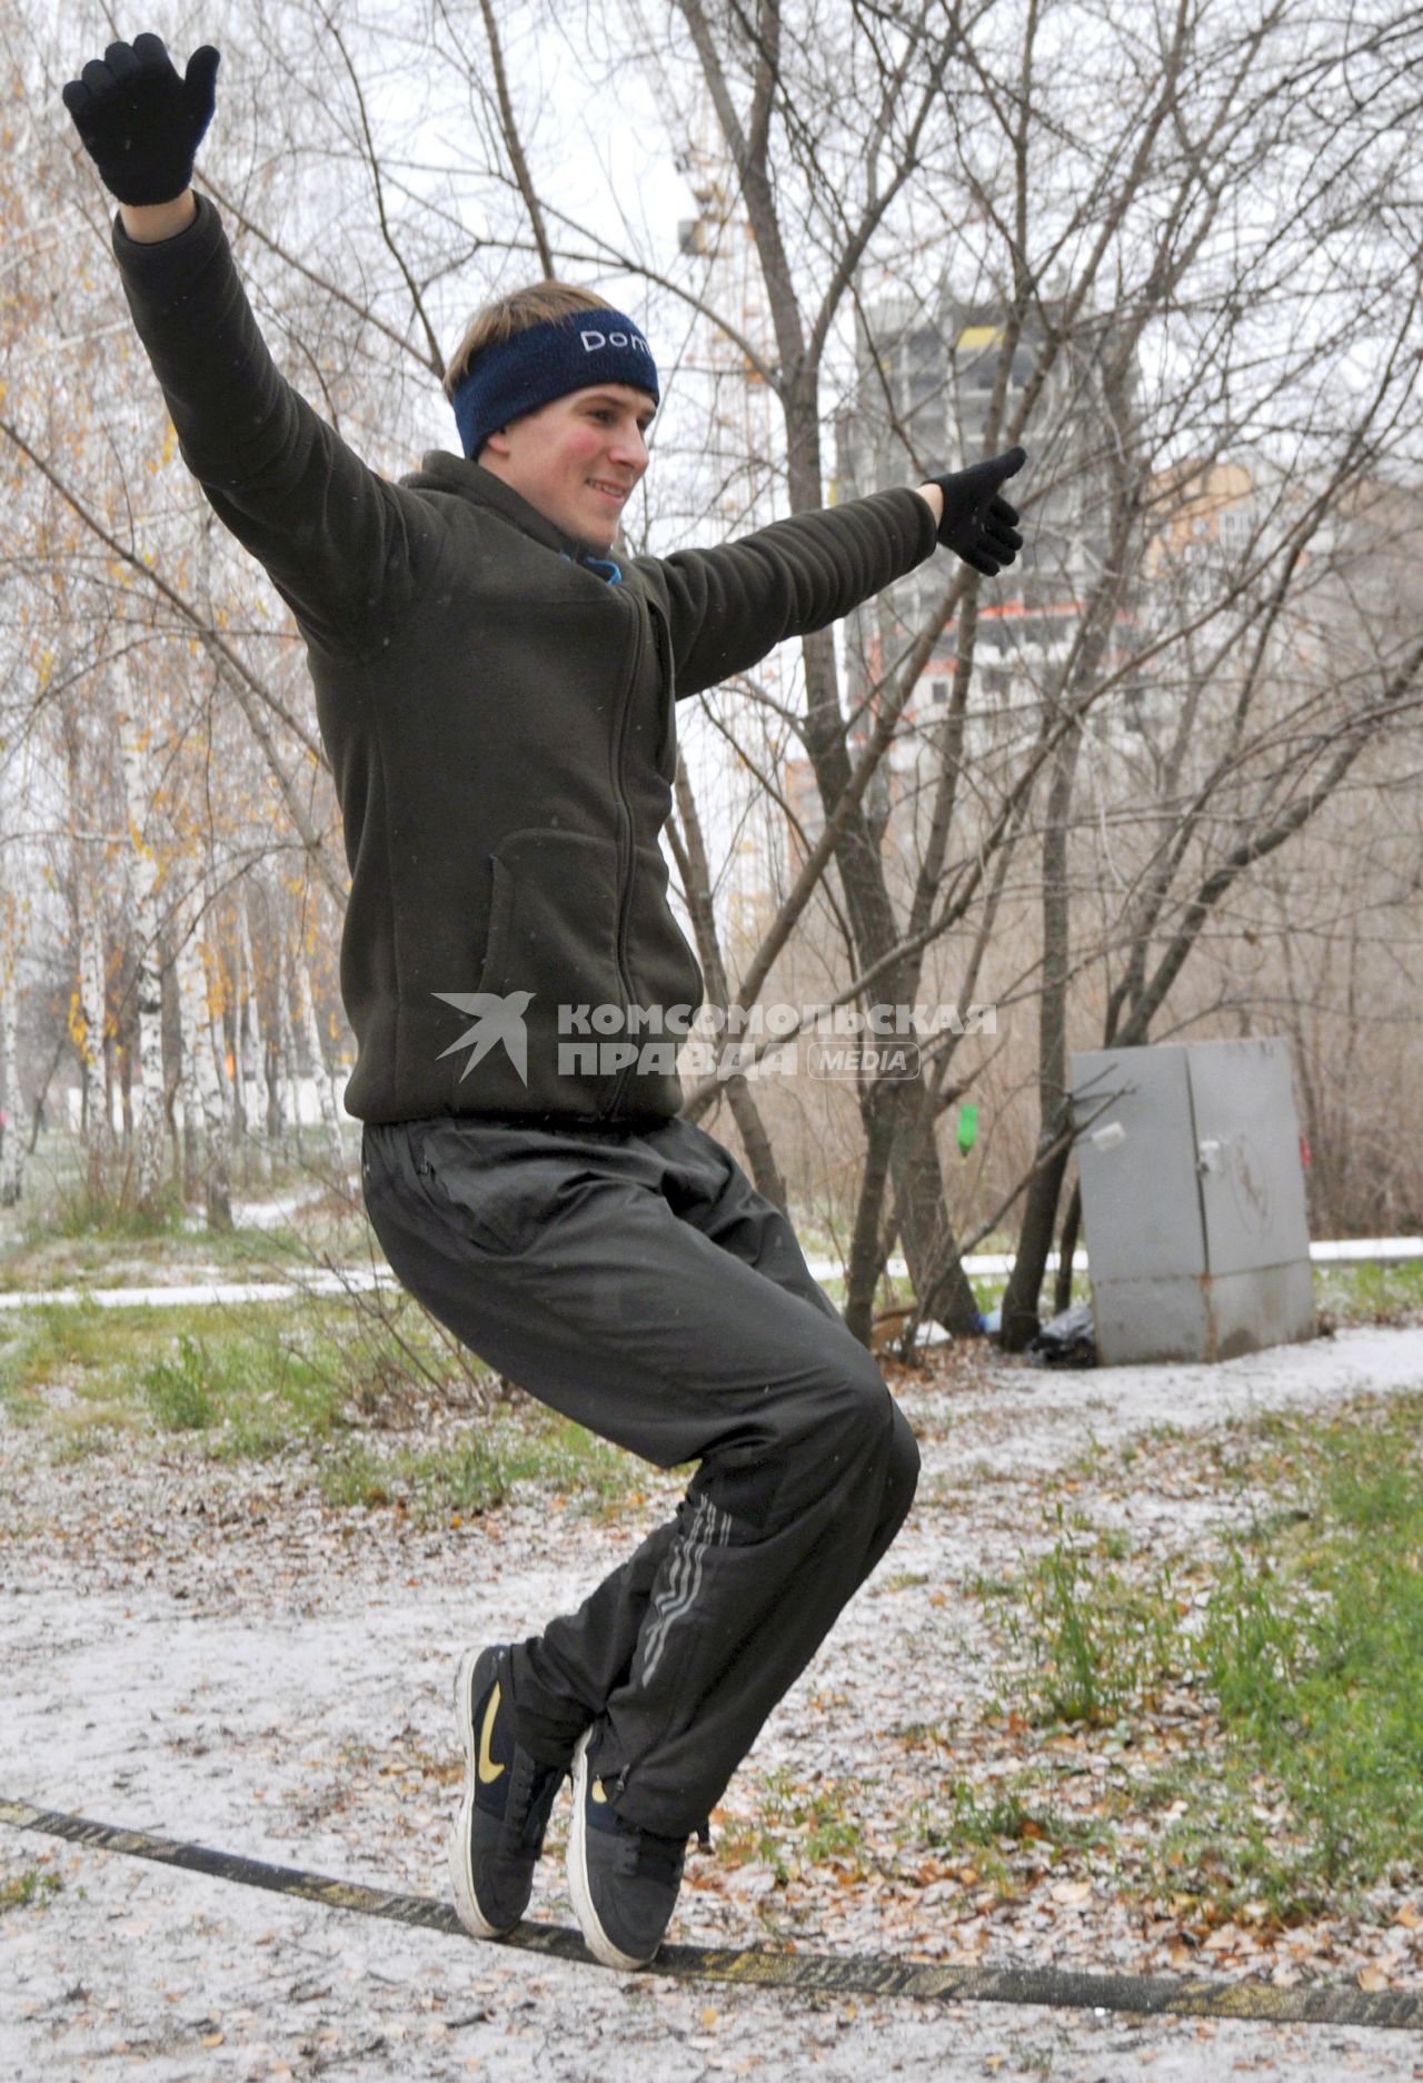
M183 460L306 639L350 862L346 1108L667 1119L702 977L667 902L673 700L935 542L915 492L621 583L477 462L388 483L277 373L217 210L115 254Z

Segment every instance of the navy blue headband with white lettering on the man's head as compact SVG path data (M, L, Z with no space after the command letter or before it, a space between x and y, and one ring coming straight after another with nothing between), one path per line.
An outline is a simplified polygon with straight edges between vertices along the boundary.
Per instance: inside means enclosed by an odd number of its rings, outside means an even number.
M498 427L594 383L631 383L658 400L656 362L621 310L573 310L483 348L454 387L454 423L467 456Z

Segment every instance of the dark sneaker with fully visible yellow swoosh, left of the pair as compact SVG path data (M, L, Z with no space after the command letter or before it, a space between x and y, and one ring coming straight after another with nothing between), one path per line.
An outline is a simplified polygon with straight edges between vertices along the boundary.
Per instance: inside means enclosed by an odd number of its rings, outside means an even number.
M454 1712L465 1743L465 1798L450 1831L454 1908L477 1939L513 1931L533 1893L533 1866L565 1766L540 1764L515 1741L508 1650L465 1650Z

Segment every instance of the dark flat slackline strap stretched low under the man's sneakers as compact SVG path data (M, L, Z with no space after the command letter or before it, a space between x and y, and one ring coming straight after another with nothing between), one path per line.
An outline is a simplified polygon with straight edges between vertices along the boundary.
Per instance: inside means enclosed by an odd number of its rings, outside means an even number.
M417 1931L467 1937L454 1910L429 1896L396 1896L356 1881L331 1881L302 1866L271 1866L238 1852L213 1852L179 1837L154 1837L142 1829L117 1829L56 1808L33 1808L0 1796L0 1823L15 1829L65 1837L96 1852L152 1858L163 1866L206 1873L238 1887L267 1887L277 1896L319 1902L327 1910L383 1916ZM504 1939L548 1960L596 1966L577 1931L563 1925L523 1923ZM1129 2010L1140 2014L1177 2012L1185 2018L1256 2018L1265 2025L1423 2025L1423 1991L1296 1987L1277 1989L1258 1981L1192 1981L1177 1975L1075 1975L1058 1968L933 1966L925 1960L892 1960L885 1954L763 1952L725 1946L663 1946L648 1975L673 1981L719 1981L740 1989L794 1989L825 1996L910 1996L921 2002L954 2004L1048 2004L1063 2010Z

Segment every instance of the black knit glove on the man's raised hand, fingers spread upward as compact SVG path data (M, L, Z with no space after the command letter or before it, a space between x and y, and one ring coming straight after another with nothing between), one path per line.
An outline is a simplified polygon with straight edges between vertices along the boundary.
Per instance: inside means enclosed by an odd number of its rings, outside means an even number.
M156 35L110 44L65 87L83 148L119 202L173 202L213 121L219 56L194 50L183 79Z

